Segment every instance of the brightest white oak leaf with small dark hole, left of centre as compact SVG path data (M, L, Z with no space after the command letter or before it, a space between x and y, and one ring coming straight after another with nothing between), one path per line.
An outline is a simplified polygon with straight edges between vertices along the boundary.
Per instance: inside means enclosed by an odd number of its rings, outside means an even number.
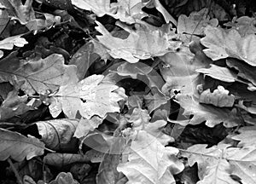
M101 83L104 76L92 75L79 82L61 86L49 106L56 117L61 110L68 118L75 118L79 112L84 118L93 115L103 118L108 112L119 112L118 101L126 98L125 90L110 83Z

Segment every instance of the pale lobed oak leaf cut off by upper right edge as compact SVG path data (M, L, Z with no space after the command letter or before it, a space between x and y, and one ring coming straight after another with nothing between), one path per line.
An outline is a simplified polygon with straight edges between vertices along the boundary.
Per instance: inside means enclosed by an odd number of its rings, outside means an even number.
M207 47L204 49L206 55L212 60L234 57L244 60L251 66L256 66L256 36L254 34L241 37L239 32L207 26L206 37L201 38L201 43Z

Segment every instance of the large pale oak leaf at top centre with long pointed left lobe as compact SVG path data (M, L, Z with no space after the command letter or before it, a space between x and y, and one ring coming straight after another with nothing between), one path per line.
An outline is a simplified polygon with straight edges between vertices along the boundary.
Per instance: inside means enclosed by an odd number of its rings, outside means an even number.
M97 36L113 58L122 58L135 63L138 60L146 60L154 56L165 55L167 52L177 49L177 45L169 42L170 27L157 29L146 24L136 25L136 31L129 30L130 35L126 39L113 37L102 24L96 21L96 30L102 33Z

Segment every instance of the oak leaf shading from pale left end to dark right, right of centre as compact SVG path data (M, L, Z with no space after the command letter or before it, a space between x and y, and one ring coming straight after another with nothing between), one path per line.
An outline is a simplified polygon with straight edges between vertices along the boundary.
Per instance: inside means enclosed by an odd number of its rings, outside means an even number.
M194 115L188 121L189 124L201 124L206 121L209 127L220 123L224 123L225 127L234 127L241 123L234 110L200 104L190 95L177 95L177 101L184 108L183 115Z

